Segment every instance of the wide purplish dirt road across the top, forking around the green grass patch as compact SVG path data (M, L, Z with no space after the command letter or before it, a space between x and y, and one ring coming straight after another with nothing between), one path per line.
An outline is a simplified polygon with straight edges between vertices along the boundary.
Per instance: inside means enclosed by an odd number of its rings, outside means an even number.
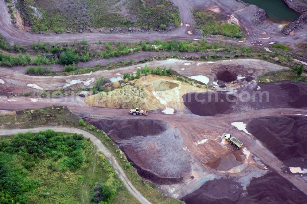
M179 15L181 17L182 25L177 29L168 32L168 33L160 33L160 32L145 32L145 33L126 33L126 34L101 34L98 31L94 31L93 33L64 33L64 34L32 34L21 31L15 28L10 22L10 15L8 13L8 9L5 4L5 0L0 0L0 33L3 37L5 37L10 43L18 43L21 45L29 45L33 41L38 42L73 42L73 41L81 41L85 38L89 43L94 43L99 40L101 41L122 41L122 42L131 42L138 40L189 40L192 38L202 39L202 36L196 36L193 34L193 18L191 9L197 7L203 7L205 9L219 9L219 11L223 11L224 14L231 17L235 17L239 19L240 23L247 30L247 39L243 42L239 40L226 40L231 41L233 43L244 43L246 45L258 45L258 46L267 46L269 43L285 43L295 41L303 41L307 36L305 35L306 29L301 29L294 33L294 36L283 36L278 34L278 25L277 24L265 24L263 26L254 26L251 22L251 19L247 19L247 15L254 13L258 7L252 6L250 9L246 9L246 5L242 2L235 1L200 1L200 0L188 0L188 1L176 1L173 0L174 4L178 6ZM231 6L230 6L231 5ZM234 12L233 9L236 9L238 12ZM265 31L263 34L263 31ZM192 33L191 35L188 32ZM298 39L293 39L294 37L298 37ZM206 38L208 40L216 40L212 38Z

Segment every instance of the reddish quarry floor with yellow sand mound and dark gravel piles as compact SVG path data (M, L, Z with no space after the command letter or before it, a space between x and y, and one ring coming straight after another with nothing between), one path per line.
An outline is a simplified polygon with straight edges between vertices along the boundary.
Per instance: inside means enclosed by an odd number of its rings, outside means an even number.
M145 65L172 66L187 78L202 77L193 83L156 75L108 81ZM12 81L17 84L16 91L37 88L21 88L18 83L48 84L49 89L67 86L68 76L36 77L0 69L4 89L11 87ZM84 92L85 99L73 95L45 99L1 96L1 109L55 103L68 106L84 121L104 130L142 178L165 195L186 203L305 203L306 84L258 83L259 75L283 69L288 68L253 59L153 60L116 71L74 76L81 87L87 87L82 81L103 75L108 92ZM250 94L249 100L245 101L243 91ZM253 96L253 92L257 94ZM126 109L135 106L150 110L149 115L130 115ZM222 138L223 133L238 138L243 148L235 149Z

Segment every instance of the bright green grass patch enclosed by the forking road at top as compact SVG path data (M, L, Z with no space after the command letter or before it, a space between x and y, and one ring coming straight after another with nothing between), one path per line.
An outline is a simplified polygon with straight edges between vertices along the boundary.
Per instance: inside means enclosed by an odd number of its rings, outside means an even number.
M196 18L197 28L203 30L205 34L223 35L236 38L241 38L243 36L238 25L222 23L225 19L216 13L195 11L193 14Z

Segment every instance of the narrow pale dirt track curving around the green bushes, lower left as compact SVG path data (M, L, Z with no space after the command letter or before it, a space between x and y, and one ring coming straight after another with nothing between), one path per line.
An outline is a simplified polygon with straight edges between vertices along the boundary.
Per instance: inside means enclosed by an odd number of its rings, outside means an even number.
M53 127L37 127L37 128L30 128L30 129L14 129L14 130L3 130L0 129L0 135L13 135L17 133L25 133L28 131L31 132L39 132L42 130L52 129L57 132L66 132L66 133L80 133L83 134L85 138L90 138L91 142L96 146L97 150L104 154L107 160L110 162L112 167L114 168L115 172L117 173L119 179L125 185L127 190L133 195L138 201L141 203L150 204L150 202L133 186L130 180L127 178L124 170L120 167L116 158L112 155L112 153L102 144L102 142L96 138L94 135L90 134L87 131L80 130L74 127L60 127L60 126L53 126Z

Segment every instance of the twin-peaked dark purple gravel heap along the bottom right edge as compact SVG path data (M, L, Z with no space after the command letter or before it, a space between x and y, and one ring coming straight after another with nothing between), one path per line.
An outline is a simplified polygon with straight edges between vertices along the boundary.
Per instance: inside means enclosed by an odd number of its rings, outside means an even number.
M187 204L306 203L307 195L276 172L251 179L247 193L234 179L214 179L180 200Z

